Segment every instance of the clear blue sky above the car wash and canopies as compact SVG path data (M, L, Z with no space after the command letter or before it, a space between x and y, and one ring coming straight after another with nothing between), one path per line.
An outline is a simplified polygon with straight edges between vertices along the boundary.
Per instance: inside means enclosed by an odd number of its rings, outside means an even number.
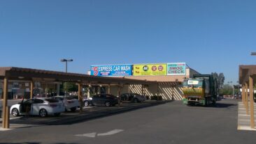
M0 0L0 67L185 62L236 83L256 64L255 0Z

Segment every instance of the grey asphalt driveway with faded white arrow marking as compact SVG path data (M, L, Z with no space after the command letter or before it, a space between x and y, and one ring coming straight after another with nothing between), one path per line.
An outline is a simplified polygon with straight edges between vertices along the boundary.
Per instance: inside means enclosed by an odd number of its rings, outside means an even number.
M181 101L73 125L1 131L0 143L255 143L255 131L237 131L237 100L216 107Z

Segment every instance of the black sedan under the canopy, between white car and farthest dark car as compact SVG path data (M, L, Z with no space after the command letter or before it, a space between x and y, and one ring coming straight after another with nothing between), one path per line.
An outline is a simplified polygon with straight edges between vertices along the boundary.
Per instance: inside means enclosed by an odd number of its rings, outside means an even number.
M109 94L99 94L85 99L85 106L115 106L118 104L118 97Z

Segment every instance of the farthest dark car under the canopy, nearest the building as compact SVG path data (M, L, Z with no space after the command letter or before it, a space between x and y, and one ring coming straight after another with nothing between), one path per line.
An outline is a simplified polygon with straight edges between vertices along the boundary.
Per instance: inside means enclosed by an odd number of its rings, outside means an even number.
M129 101L129 102L144 102L145 96L138 95L138 93L123 93L120 95L122 101Z

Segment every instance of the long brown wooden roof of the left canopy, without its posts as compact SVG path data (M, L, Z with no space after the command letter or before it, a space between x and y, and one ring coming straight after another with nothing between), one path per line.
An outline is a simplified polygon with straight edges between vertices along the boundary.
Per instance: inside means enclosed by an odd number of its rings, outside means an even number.
M157 81L127 79L123 77L97 77L88 74L70 72L56 72L50 70L36 70L21 67L0 67L0 79L22 81L69 81L78 83L127 83L150 84Z

